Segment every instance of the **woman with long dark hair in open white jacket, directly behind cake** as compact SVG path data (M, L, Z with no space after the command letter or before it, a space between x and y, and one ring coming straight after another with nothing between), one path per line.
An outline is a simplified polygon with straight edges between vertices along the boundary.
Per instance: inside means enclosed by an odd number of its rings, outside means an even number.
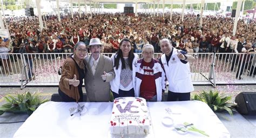
M114 98L134 96L138 54L133 53L131 41L124 38L119 44L119 50L112 55L111 59L116 74L110 82Z

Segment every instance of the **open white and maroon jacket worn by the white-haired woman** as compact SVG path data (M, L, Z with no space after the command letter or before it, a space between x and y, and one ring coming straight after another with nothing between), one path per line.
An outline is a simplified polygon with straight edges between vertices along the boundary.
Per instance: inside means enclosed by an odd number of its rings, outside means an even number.
M143 59L138 60L138 64L136 67L136 86L134 89L135 92L135 96L138 97L139 93L140 93L140 84L142 84L142 79L143 79L143 75L144 75L144 70L143 70L143 66L142 66L142 61ZM153 69L153 74L154 74L154 80L156 83L156 88L157 88L157 101L161 101L162 100L162 89L166 89L165 87L165 73L164 73L164 69L161 66L161 64L159 63L158 60L156 59L152 59L152 69ZM150 85L150 84L149 84Z

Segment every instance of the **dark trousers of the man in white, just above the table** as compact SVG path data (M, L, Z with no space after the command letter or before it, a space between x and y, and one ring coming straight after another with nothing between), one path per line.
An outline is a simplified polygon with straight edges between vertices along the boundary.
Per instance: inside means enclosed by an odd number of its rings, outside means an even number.
M167 101L189 101L190 93L174 93L168 91Z

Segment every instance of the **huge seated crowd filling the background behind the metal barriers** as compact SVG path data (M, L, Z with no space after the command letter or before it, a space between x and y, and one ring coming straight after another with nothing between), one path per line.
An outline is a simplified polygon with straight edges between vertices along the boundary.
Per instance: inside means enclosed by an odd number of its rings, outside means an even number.
M187 13L183 22L180 13L173 13L172 20L168 14L157 17L149 13L139 13L138 16L126 16L123 13L82 14L81 17L75 13L74 18L63 15L60 22L56 15L43 18L45 27L42 31L39 30L37 17L6 19L11 40L0 39L0 51L20 53L24 42L28 42L28 53L72 53L78 42L89 45L92 38L100 39L103 53L117 52L124 38L132 42L134 53L142 52L146 44L153 45L154 52L161 52L159 41L164 38L169 39L176 49L187 53L242 53L242 48L248 47L247 44L252 46L252 51L256 44L256 22L248 19L238 20L237 31L233 36L233 18L205 16L202 26L199 26L199 16L193 13ZM2 57L8 60L6 58Z

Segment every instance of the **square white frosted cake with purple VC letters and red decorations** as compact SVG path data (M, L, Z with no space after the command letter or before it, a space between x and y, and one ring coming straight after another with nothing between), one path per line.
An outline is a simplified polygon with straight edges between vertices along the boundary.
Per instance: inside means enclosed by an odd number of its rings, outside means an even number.
M116 98L110 120L111 134L149 134L151 120L143 98Z

